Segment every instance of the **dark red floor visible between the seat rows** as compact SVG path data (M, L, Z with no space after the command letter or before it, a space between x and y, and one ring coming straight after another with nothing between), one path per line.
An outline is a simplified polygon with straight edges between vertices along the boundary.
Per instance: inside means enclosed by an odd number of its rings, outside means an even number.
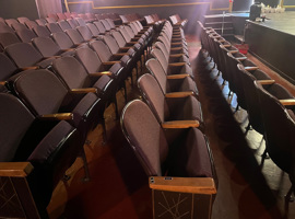
M284 195L290 188L287 174L267 159L262 136L250 130L245 137L247 113L236 107L236 96L228 96L227 85L216 70L209 71L203 62L200 42L187 36L191 65L200 92L205 135L209 137L219 176L219 189L213 205L213 219L267 219L295 218L295 204L285 205ZM200 51L200 53L199 53ZM268 68L251 57L260 68ZM209 66L212 64L209 64ZM271 72L271 71L269 71ZM290 88L294 85L271 72L275 80ZM122 92L117 93L119 110L125 106ZM138 99L135 85L128 83L128 99ZM91 172L84 182L81 159L68 170L70 180L57 186L48 212L51 219L151 219L152 197L145 175L131 148L122 136L114 106L105 114L107 142L102 145L102 128L90 135L85 151Z

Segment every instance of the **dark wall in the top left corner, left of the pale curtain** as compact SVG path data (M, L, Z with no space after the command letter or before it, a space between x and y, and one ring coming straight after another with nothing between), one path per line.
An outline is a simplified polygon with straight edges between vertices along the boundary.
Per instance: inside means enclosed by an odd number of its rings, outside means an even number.
M35 0L0 0L0 16L3 19L19 16L38 19L36 2Z

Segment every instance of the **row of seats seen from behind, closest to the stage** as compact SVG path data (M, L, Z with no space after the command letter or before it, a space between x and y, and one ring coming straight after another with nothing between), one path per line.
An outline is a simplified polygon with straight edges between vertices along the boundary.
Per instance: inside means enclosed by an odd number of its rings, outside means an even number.
M231 91L237 95L238 106L248 112L246 134L252 127L263 135L267 146L263 159L268 153L280 169L290 174L294 186L295 97L214 28L198 23L206 59L214 61L224 82L227 81Z

